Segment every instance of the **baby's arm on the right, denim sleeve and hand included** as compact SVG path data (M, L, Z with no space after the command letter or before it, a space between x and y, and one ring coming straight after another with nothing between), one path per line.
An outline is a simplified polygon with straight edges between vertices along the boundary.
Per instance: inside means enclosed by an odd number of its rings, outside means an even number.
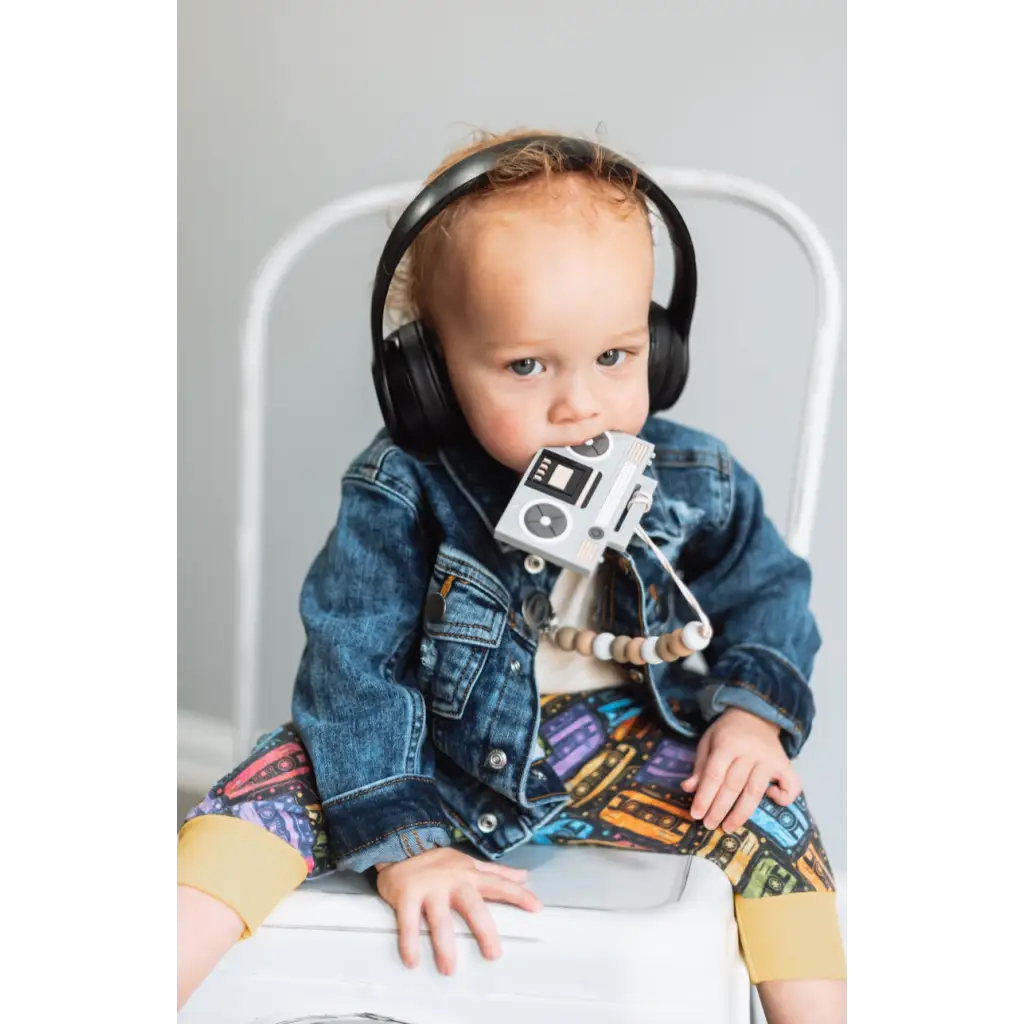
M792 803L801 782L790 759L814 718L808 684L820 637L810 610L811 571L764 511L757 481L730 461L727 514L684 557L715 636L700 707L710 725L697 745L695 819L740 827L766 795Z

